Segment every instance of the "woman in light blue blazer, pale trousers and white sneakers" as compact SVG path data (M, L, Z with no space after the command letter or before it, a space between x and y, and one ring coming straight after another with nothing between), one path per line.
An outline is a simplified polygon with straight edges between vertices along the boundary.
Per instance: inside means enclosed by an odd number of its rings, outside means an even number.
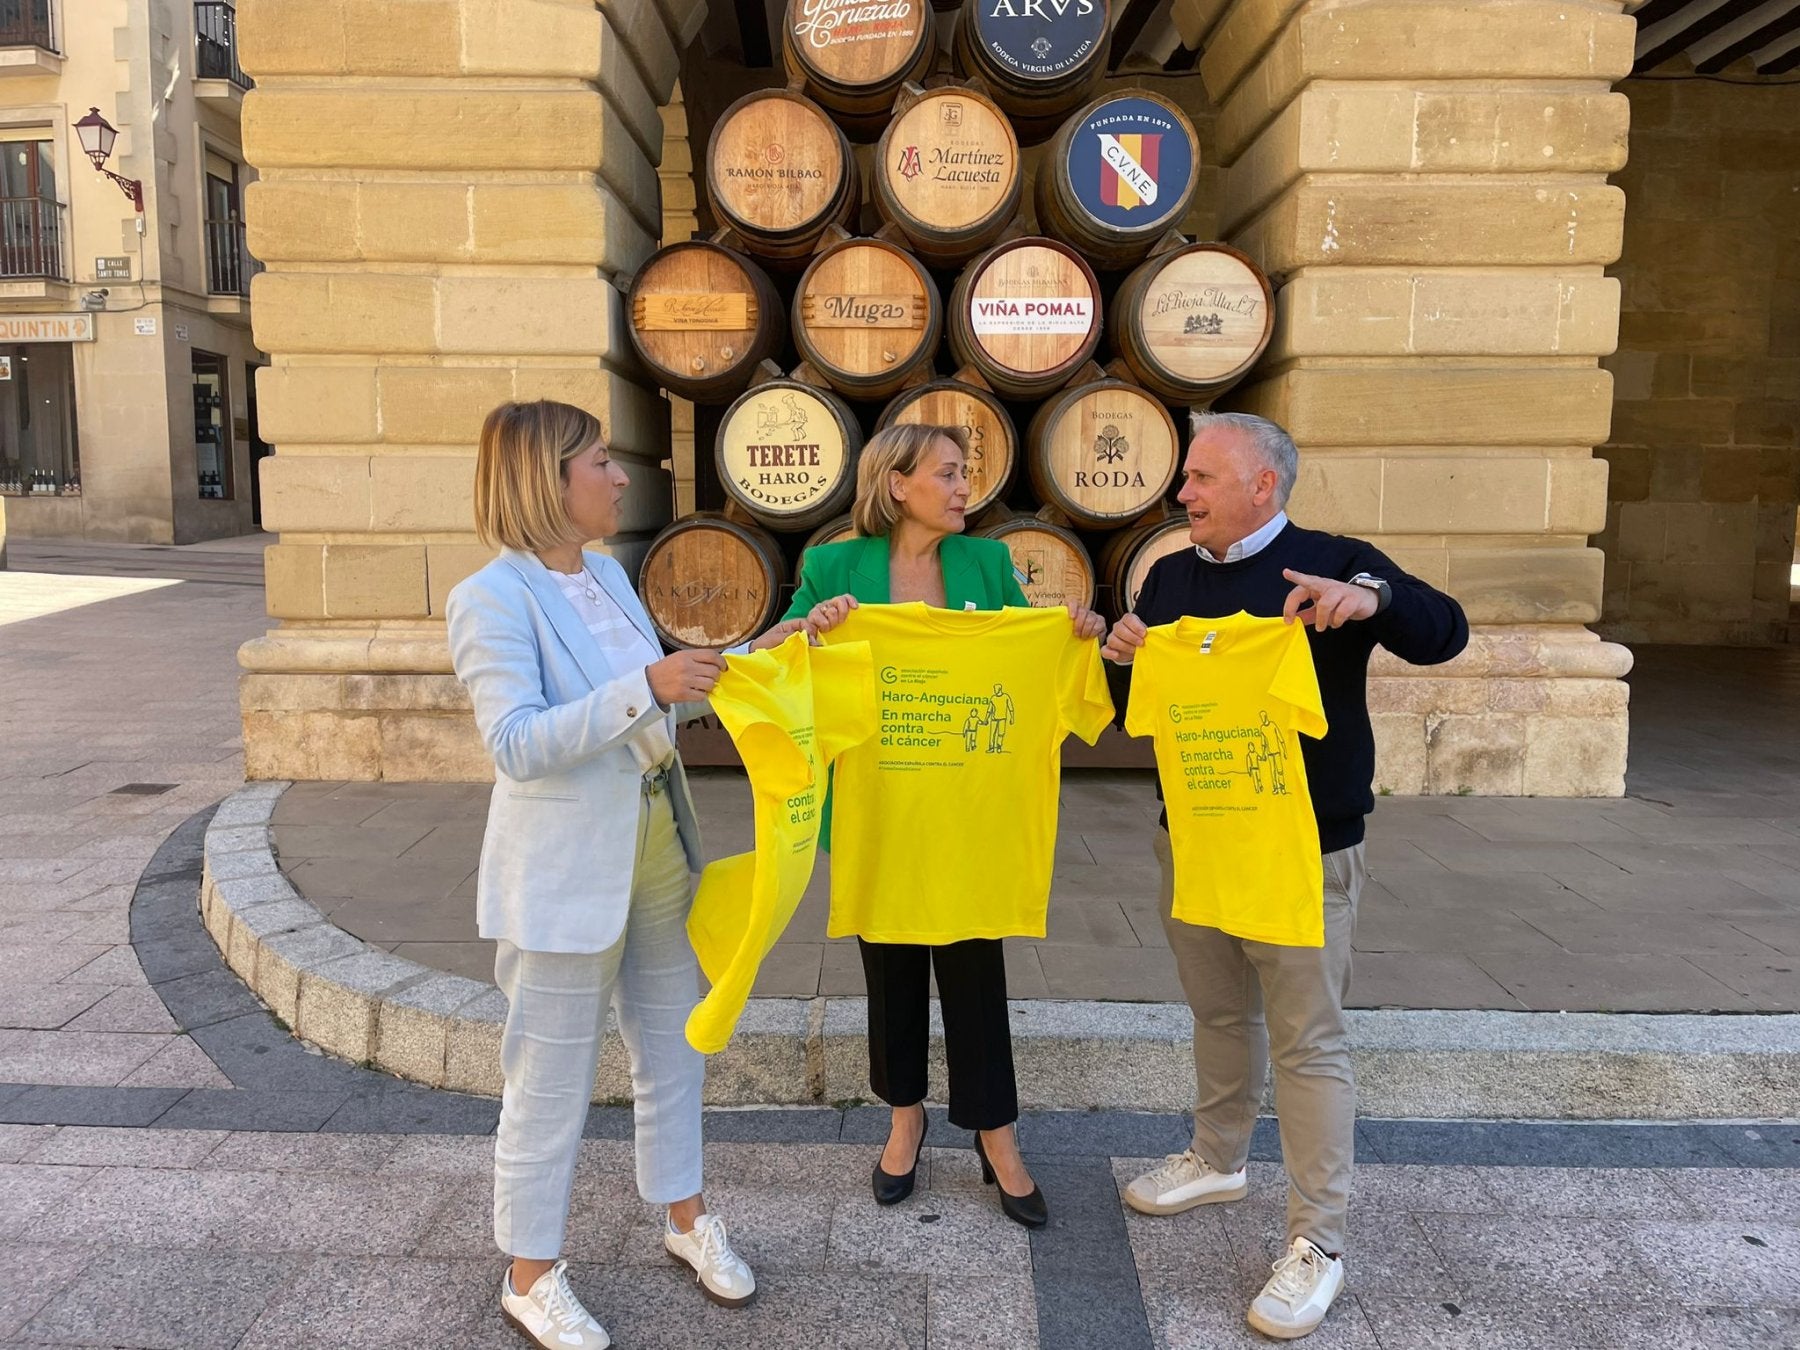
M608 1343L560 1260L608 1006L632 1057L637 1190L668 1206L664 1247L716 1303L756 1292L700 1195L704 1060L684 1035L702 859L675 722L700 711L680 706L704 700L725 662L662 655L625 569L583 551L617 533L626 482L581 409L495 409L475 457L475 529L500 556L448 603L455 673L495 769L475 905L508 997L493 1235L513 1264L500 1307L554 1350Z

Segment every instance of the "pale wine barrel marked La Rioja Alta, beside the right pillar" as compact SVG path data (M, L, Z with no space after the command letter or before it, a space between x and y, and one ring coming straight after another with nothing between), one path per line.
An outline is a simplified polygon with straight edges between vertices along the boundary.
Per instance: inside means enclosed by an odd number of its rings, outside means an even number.
M1274 333L1269 279L1237 248L1190 243L1120 283L1112 347L1145 389L1206 403L1249 374Z

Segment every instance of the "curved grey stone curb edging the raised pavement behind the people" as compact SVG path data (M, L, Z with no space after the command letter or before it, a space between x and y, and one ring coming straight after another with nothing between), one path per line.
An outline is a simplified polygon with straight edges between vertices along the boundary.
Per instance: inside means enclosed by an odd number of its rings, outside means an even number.
M400 1078L500 1093L497 988L335 927L281 873L268 823L286 783L254 783L207 828L200 918L225 963L304 1040ZM864 999L752 999L707 1062L709 1105L868 1096ZM1357 1109L1382 1118L1766 1120L1800 1102L1800 1013L1352 1012ZM1170 1003L1015 999L1026 1109L1186 1111L1193 1021ZM630 1102L608 1026L596 1102ZM932 1006L931 1098L945 1100ZM1273 1102L1273 1096L1269 1098Z

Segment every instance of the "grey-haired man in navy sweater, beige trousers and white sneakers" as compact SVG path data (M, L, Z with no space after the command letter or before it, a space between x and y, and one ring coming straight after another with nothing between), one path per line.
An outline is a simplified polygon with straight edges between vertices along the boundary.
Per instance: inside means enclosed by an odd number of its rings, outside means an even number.
M1175 920L1168 835L1157 835L1163 925L1193 1008L1199 1100L1193 1145L1125 1190L1127 1204L1154 1215L1242 1199L1249 1136L1273 1058L1289 1179L1287 1249L1251 1303L1249 1323L1280 1339L1312 1332L1345 1280L1355 1078L1343 1001L1355 904L1368 877L1363 817L1375 806L1368 659L1381 644L1402 661L1431 666L1469 643L1469 621L1454 599L1402 572L1372 544L1301 529L1287 518L1298 464L1292 439L1273 421L1197 412L1181 488L1195 547L1150 569L1134 612L1114 625L1102 648L1129 668L1147 628L1190 614L1244 610L1309 628L1330 727L1323 740L1301 743L1323 855L1325 945L1246 941Z

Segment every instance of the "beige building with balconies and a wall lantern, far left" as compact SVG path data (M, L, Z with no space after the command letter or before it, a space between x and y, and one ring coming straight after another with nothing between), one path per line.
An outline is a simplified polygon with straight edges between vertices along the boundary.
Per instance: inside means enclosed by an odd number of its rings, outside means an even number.
M14 538L257 517L232 0L0 5L0 493ZM117 130L95 173L76 124Z

